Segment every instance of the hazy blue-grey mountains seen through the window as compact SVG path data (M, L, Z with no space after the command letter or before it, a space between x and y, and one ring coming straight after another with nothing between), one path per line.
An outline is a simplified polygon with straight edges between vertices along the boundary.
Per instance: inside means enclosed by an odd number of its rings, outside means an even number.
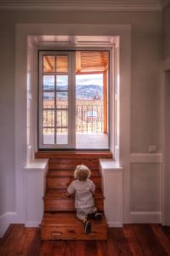
M43 90L54 90L54 86L50 84L44 84ZM58 90L67 90L66 85L58 86ZM79 100L92 100L94 98L102 99L103 97L103 87L98 84L77 84L76 87L76 96ZM60 99L65 97L64 92L59 92ZM46 93L46 96L43 97L44 99L52 99L53 96Z

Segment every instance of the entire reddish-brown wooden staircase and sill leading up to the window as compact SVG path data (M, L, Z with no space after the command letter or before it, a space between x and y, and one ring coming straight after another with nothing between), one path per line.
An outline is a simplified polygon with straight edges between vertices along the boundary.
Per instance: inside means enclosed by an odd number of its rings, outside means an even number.
M92 221L92 233L86 235L84 226L76 217L74 198L68 197L66 188L73 180L77 165L90 168L96 185L95 206L104 213L104 196L101 191L99 158L111 158L111 153L37 152L37 158L48 158L44 215L41 224L42 240L106 240L105 216Z

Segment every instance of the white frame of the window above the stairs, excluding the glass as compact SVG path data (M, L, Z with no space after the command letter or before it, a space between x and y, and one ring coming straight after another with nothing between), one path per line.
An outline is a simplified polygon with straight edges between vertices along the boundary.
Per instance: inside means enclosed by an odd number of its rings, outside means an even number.
M61 46L60 46L61 45ZM91 43L89 42L83 42L83 46L71 46L71 44L65 44L65 46L63 46L62 44L60 45L55 45L55 50L52 50L51 47L47 46L45 49L42 48L42 47L39 47L37 48L37 50L39 52L42 52L43 54L51 54L54 55L55 54L61 54L62 53L65 53L65 54L69 54L71 51L72 52L76 52L76 51L86 51L86 50L96 50L96 51L102 51L102 50L107 50L109 51L109 76L108 76L108 148L107 149L103 149L103 148L94 148L92 150L111 150L111 148L113 147L113 141L115 142L115 134L112 134L112 119L114 119L114 115L115 115L115 108L114 108L114 98L112 97L113 93L112 91L114 90L113 88L115 88L115 82L116 82L116 79L115 79L115 76L116 76L116 68L115 68L115 63L116 63L116 60L115 60L115 52L116 52L116 42L114 41L114 44L109 45L106 44L105 46L100 46L98 44L96 44L95 46L91 46ZM53 49L54 49L53 48ZM71 58L71 74L74 74L74 70L76 69L75 68L75 65L76 65L76 61L75 61L75 55L72 55L72 58ZM40 66L42 67L42 62L40 62ZM39 70L39 79L42 77L41 75L41 70ZM70 127L69 127L69 142L68 144L65 144L65 145L59 145L59 144L52 144L52 145L43 145L42 143L42 125L39 125L42 123L42 105L41 105L41 96L42 96L42 91L39 90L39 104L40 105L40 109L38 110L38 116L39 116L39 119L38 119L38 142L37 142L37 147L39 150L41 149L60 149L60 148L63 148L63 149L71 149L71 150L89 150L89 148L82 148L82 149L79 149L79 148L76 148L76 133L73 132L75 131L75 128L76 128L76 119L72 117L73 113L76 112L76 106L73 102L76 101L76 95L75 95L75 90L76 90L76 86L73 86L73 84L76 84L76 75L74 75L74 78L71 77L71 80L72 80L72 84L71 84L71 93L70 93L70 106L71 108L68 108L69 109L69 113L70 113L70 117L71 117L71 124L70 124ZM40 86L40 83L39 82L39 88L41 87ZM70 82L71 83L71 82ZM41 83L42 84L42 83Z

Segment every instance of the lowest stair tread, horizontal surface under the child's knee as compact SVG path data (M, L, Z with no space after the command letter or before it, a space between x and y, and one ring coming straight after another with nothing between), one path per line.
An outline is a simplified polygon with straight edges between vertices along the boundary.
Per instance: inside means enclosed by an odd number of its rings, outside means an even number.
M93 225L107 226L105 216L100 219L91 219ZM55 212L45 213L42 218L41 226L79 226L82 222L77 218L75 212Z

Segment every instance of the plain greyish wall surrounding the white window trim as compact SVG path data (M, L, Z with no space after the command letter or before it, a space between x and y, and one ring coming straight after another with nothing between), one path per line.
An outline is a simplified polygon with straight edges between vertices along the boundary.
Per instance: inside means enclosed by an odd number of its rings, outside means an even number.
M5 22L4 22L5 20ZM160 61L161 61L161 13L160 12L44 12L1 11L0 12L0 77L1 114L3 124L0 133L2 156L1 183L3 183L0 215L14 208L14 33L17 23L87 23L132 25L132 90L131 90L131 153L148 153L150 145L161 152L160 136ZM41 33L41 32L40 32ZM83 32L82 32L83 34ZM2 118L1 118L2 119ZM127 134L127 136L129 136ZM4 150L5 149L5 150ZM130 160L129 160L130 162ZM156 172L150 182L157 180ZM133 181L133 173L143 173L145 166L135 172L135 166L126 180ZM150 168L149 168L150 170ZM153 171L151 170L150 173ZM137 174L136 174L137 173ZM144 172L145 173L145 172ZM145 178L145 177L143 177ZM125 182L126 182L125 180ZM126 183L124 183L126 186ZM145 189L149 186L145 183ZM133 185L133 193L135 186ZM156 187L156 189L158 189ZM126 192L126 191L125 191ZM130 191L127 191L131 193ZM150 195L155 201L153 195ZM145 198L145 196L143 196ZM143 202L144 206L146 201ZM159 205L159 203L158 203ZM155 206L154 211L158 205ZM135 206L134 206L135 207ZM147 211L150 209L145 208ZM144 211L144 209L143 209ZM125 221L130 221L124 216Z

